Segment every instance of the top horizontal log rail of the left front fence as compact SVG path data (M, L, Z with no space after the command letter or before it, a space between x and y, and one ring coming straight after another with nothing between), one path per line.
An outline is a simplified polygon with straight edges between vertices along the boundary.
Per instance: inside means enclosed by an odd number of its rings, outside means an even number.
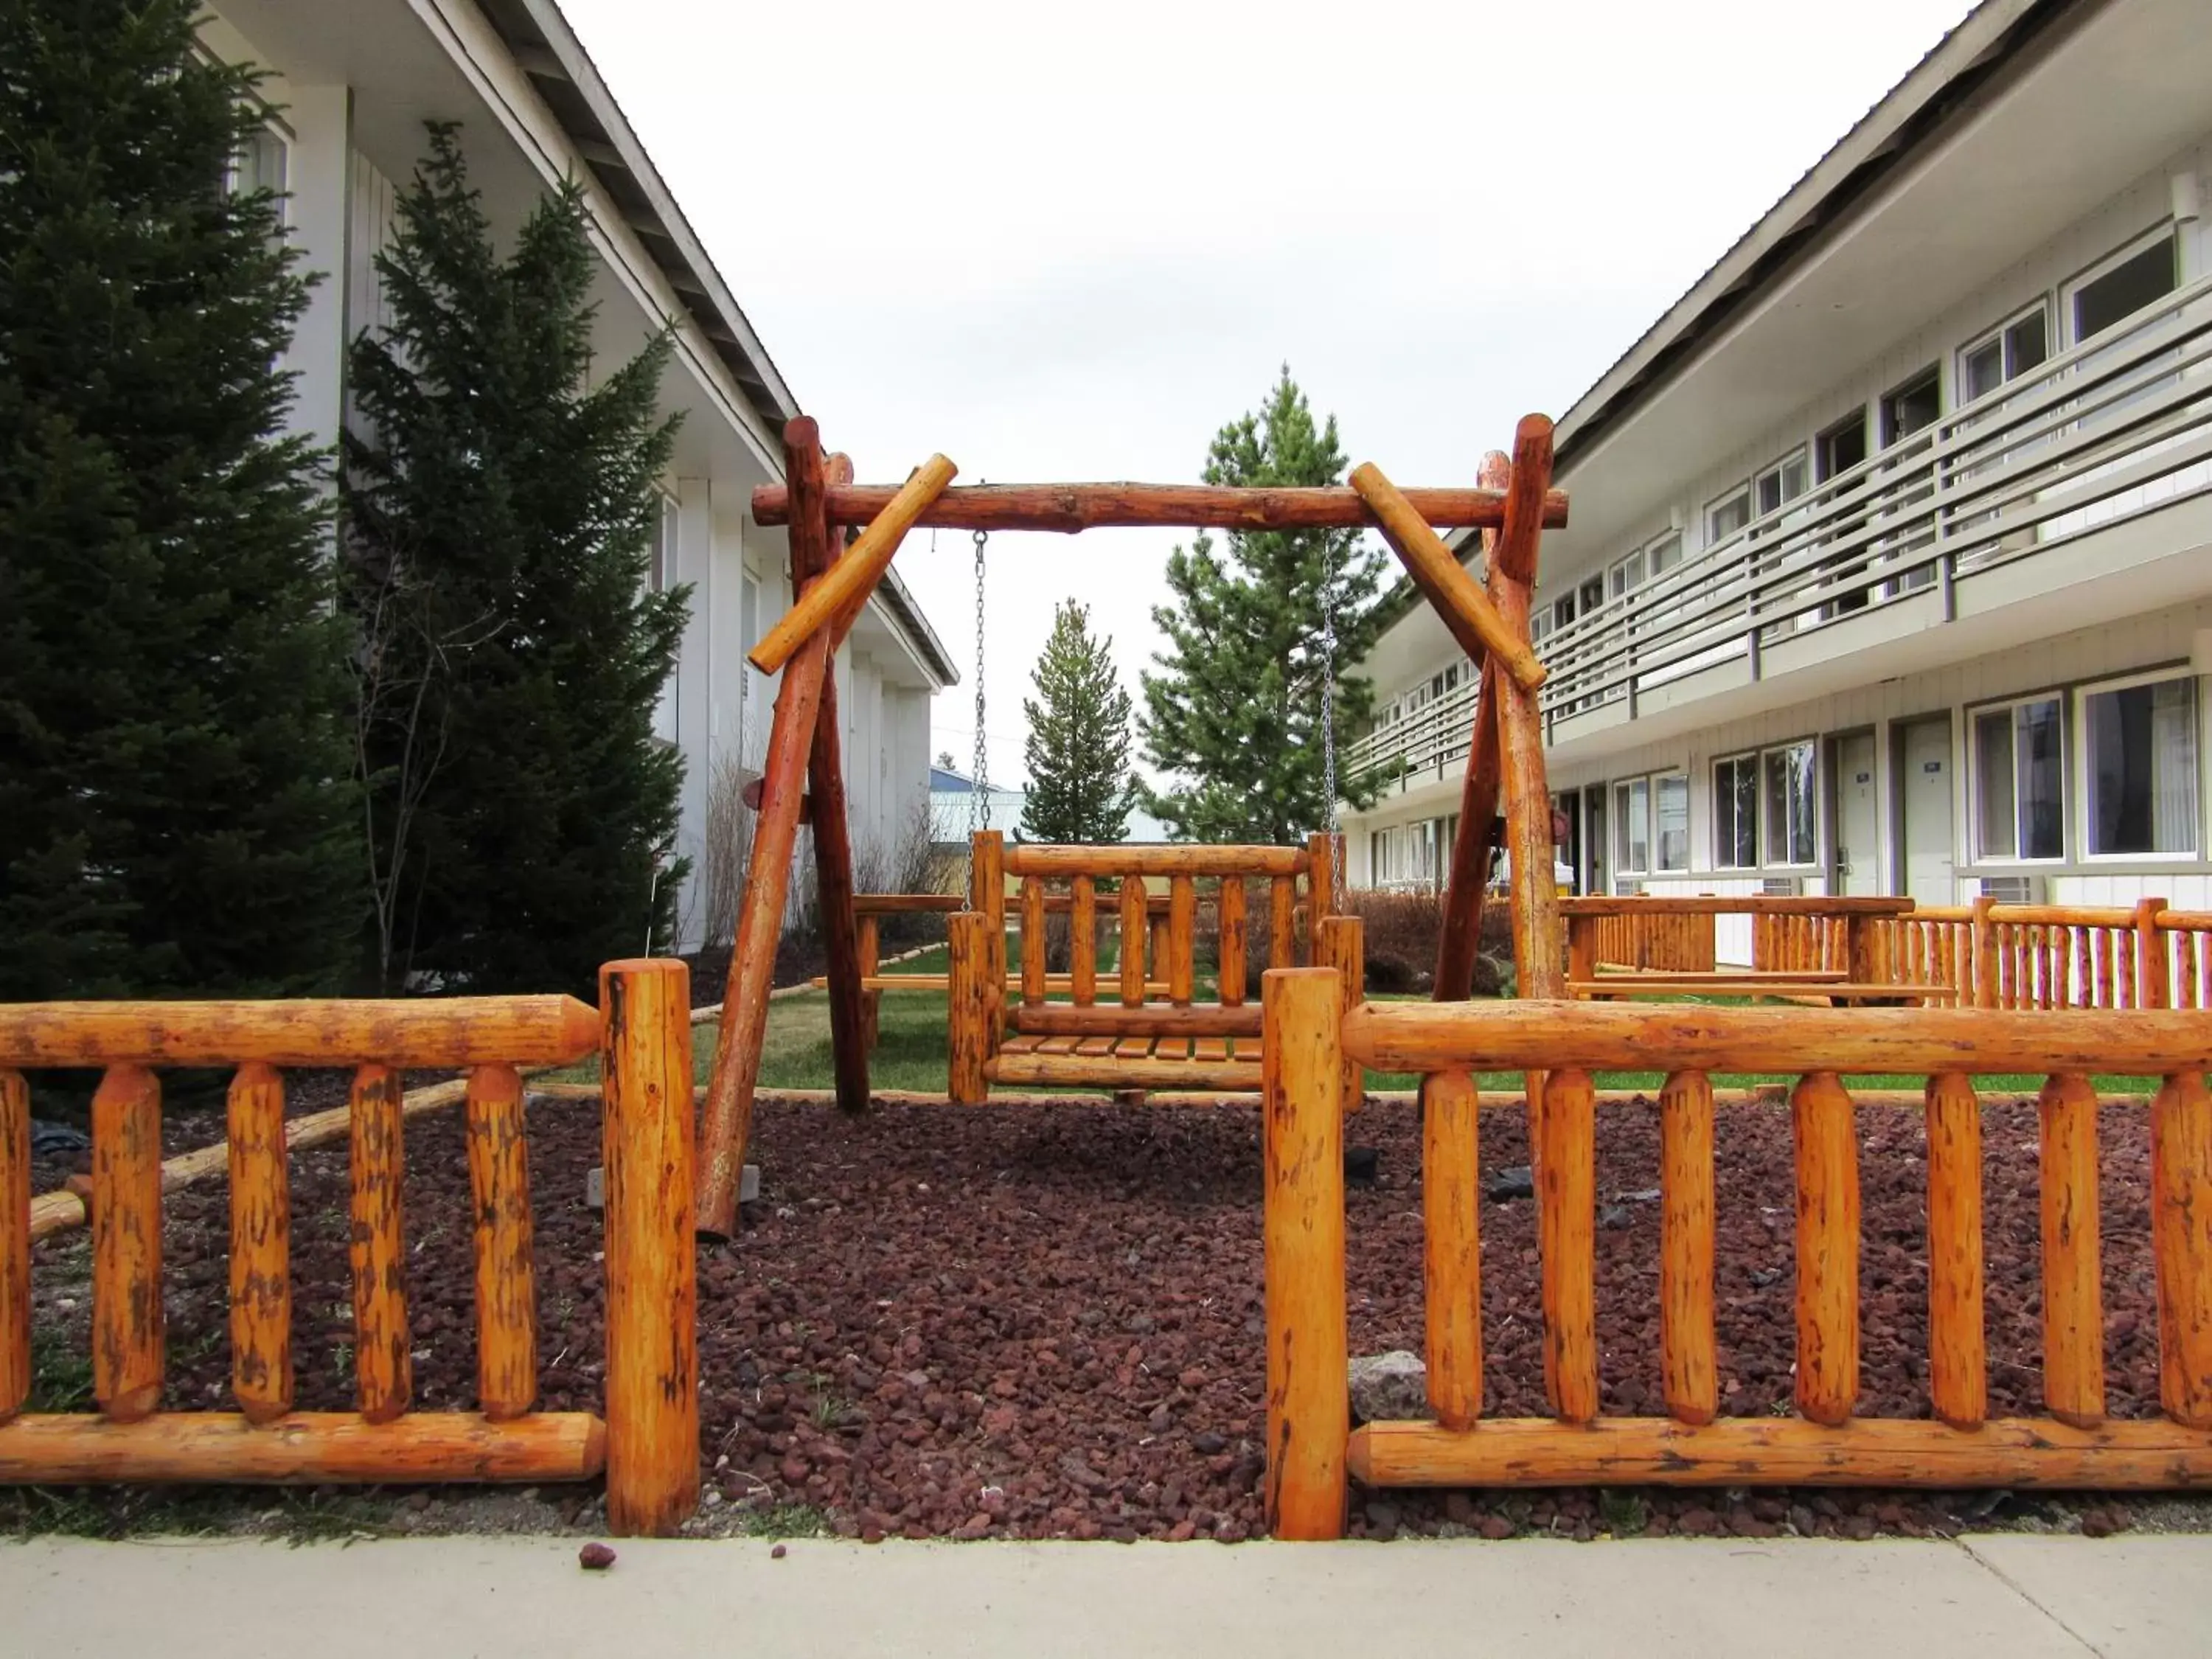
M566 1066L597 1042L575 998L15 1002L0 1066Z

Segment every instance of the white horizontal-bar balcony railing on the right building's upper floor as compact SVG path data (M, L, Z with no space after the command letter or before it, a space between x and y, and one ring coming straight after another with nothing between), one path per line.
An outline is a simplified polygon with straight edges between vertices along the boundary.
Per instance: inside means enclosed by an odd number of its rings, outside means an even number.
M2168 294L1858 467L1823 480L1540 646L1553 732L1712 668L1929 595L2212 489L2212 279ZM1730 684L1739 684L1732 679ZM1363 737L1352 776L1467 754L1469 684Z

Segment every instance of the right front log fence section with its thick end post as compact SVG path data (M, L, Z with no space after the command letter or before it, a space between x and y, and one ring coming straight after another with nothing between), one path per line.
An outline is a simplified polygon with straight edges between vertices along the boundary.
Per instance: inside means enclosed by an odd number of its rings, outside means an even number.
M1334 975L1265 978L1267 1517L1336 1537L1347 1475L1371 1486L2212 1484L2212 1018L2181 1011L1340 1006ZM1422 1088L1425 1305L1433 1420L1347 1431L1343 1068ZM1546 1418L1482 1418L1475 1075L1548 1068L1537 1133ZM1661 1091L1659 1363L1666 1416L1599 1413L1595 1091ZM1783 1071L1796 1141L1796 1416L1721 1418L1714 1347L1712 1073ZM1973 1073L2044 1073L2039 1418L1986 1413L1982 1146ZM2108 1420L2088 1073L2148 1099L2163 1420ZM1843 1073L1927 1082L1929 1409L1856 1418L1858 1135Z

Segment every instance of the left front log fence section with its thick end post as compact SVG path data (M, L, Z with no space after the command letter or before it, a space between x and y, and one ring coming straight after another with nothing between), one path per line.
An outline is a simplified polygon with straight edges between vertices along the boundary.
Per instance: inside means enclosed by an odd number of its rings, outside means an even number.
M571 998L44 1002L0 1006L0 1482L588 1480L608 1526L668 1533L699 1498L690 973L613 962ZM606 1416L535 1411L538 1307L520 1066L599 1053ZM97 1413L31 1402L31 1082L93 1095L91 1358ZM234 1066L230 1394L164 1411L161 1079ZM285 1066L349 1066L354 1411L294 1409ZM400 1073L467 1068L478 1409L414 1411Z

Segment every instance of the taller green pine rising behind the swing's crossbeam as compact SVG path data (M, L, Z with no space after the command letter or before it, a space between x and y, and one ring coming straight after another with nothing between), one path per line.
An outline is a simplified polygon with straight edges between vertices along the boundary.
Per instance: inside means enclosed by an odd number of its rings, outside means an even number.
M1340 484L1336 418L1318 431L1305 394L1283 378L1259 414L1212 442L1208 484ZM1161 672L1144 675L1144 757L1183 781L1146 790L1177 836L1285 845L1329 825L1323 787L1323 639L1336 624L1336 745L1374 708L1374 686L1343 672L1374 644L1380 555L1358 531L1230 531L1228 560L1199 535L1168 557L1172 606L1152 622L1168 637ZM1354 805L1369 785L1338 779Z

